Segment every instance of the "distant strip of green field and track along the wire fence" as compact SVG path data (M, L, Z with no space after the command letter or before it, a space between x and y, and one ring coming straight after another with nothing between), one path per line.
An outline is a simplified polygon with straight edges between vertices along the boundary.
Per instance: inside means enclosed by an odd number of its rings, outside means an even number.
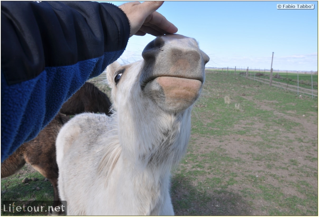
M308 94L312 98L318 97L318 72L270 70L270 69L249 69L244 68L207 68L215 73L226 75L243 76L256 82L269 84L294 91L299 94Z

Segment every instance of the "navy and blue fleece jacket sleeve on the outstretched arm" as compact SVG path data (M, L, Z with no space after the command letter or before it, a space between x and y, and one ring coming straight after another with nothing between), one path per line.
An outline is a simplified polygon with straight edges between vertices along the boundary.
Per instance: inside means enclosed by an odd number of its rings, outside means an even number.
M1 162L119 58L129 35L112 4L2 1Z

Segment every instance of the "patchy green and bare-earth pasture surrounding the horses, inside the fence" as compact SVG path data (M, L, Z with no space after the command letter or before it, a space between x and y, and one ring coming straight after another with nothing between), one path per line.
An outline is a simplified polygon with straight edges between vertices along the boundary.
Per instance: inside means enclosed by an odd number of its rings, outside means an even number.
M43 180L25 167L1 199L52 200ZM318 215L318 99L207 71L171 196L176 215Z

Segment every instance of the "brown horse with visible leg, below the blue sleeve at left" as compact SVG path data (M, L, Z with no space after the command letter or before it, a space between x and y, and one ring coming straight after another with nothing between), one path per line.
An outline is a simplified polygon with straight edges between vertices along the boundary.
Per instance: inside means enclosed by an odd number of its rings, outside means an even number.
M1 178L18 172L25 163L30 164L46 177L53 186L53 207L60 205L57 189L58 166L56 163L56 137L69 118L61 113L29 142L23 143L12 155L1 163Z

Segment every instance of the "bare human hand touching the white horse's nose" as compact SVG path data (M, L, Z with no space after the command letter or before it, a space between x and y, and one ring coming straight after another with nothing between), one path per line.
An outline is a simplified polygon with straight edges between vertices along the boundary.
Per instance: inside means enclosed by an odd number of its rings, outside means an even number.
M146 33L158 36L176 33L177 28L156 10L164 1L128 2L119 6L130 22L130 37L145 35Z

